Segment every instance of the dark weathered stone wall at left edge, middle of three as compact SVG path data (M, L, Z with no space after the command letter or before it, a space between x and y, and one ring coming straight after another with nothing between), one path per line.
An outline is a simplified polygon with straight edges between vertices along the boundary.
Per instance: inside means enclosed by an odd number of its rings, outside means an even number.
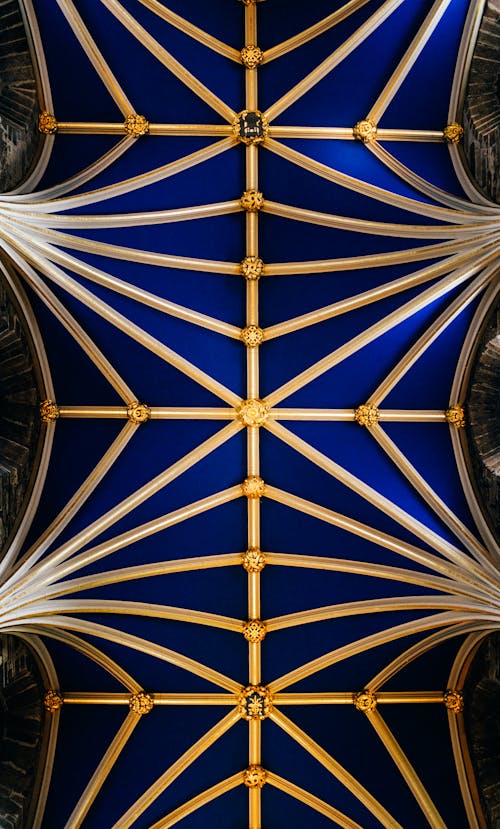
M0 280L0 551L29 496L40 436L39 400L26 323Z

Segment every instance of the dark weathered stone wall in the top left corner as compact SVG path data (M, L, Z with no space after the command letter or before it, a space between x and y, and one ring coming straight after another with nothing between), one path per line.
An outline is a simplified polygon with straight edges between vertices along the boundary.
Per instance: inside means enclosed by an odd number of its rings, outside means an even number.
M27 178L39 151L35 72L18 0L0 3L0 192Z

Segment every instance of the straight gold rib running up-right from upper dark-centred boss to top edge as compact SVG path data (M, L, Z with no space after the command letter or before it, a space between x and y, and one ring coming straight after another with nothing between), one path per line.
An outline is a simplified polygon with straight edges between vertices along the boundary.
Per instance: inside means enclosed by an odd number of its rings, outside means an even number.
M285 109L288 109L291 104L294 104L296 101L299 100L306 92L312 89L315 84L321 81L329 72L332 71L336 66L339 65L351 52L356 49L364 40L366 40L375 29L381 25L381 23L392 14L398 6L401 5L403 0L386 0L385 3L373 14L368 20L363 23L359 29L357 29L354 34L345 40L341 46L339 46L335 51L324 60L319 66L316 67L312 72L306 75L298 84L292 87L285 95L283 95L279 100L277 100L269 109L266 111L266 118L268 121L272 121L276 118L277 115L280 115L284 112Z

